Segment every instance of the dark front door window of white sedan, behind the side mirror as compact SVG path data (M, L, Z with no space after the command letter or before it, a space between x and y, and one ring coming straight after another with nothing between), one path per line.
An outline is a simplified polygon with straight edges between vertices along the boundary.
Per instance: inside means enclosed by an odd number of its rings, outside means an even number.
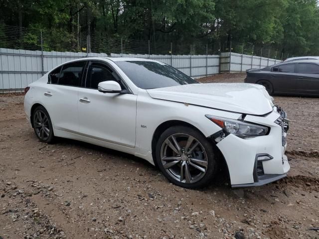
M100 63L92 63L90 66L85 87L98 89L98 85L102 81L117 81L111 70Z

